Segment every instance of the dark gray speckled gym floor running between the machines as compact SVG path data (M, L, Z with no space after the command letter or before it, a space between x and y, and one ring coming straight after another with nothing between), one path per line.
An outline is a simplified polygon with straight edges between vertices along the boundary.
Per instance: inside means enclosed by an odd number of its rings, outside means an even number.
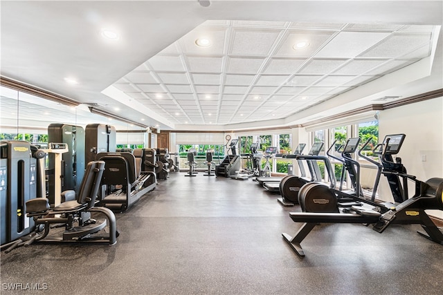
M0 293L442 294L443 246L419 236L419 226L379 234L319 225L300 258L281 236L297 231L289 212L300 208L282 207L278 197L251 179L171 173L116 214L114 246L35 243L2 252Z

